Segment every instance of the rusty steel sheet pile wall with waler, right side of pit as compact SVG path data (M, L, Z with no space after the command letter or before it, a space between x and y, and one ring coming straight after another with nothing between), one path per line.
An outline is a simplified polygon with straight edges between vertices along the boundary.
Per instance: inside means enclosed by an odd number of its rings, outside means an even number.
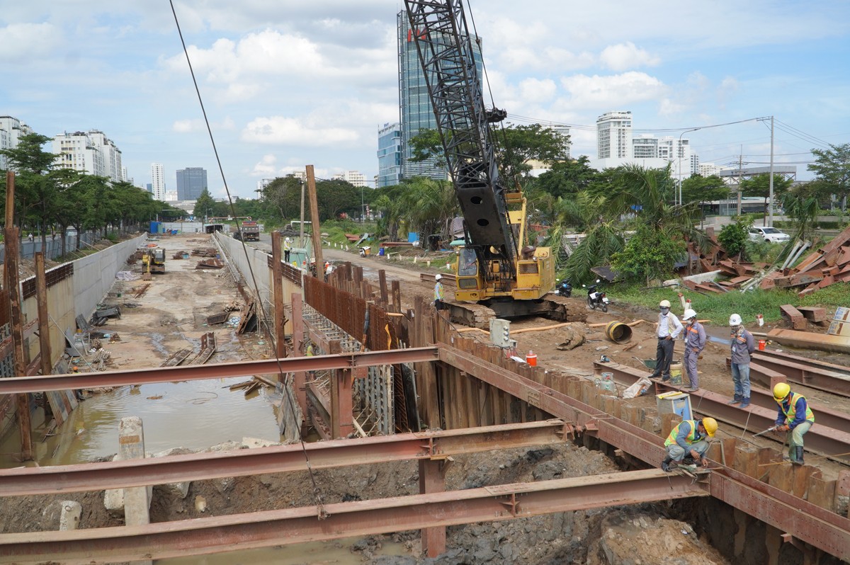
M617 448L632 460L660 465L665 455L663 438L679 416L659 415L655 409L631 404L581 376L507 359L498 347L460 336L444 318L423 308L422 302L417 303L411 347L430 336L441 344L440 358L445 361L437 364L432 375L423 371L418 376L420 413L431 427L490 426L554 415L587 426L585 438L598 440L600 449L609 454ZM705 410L698 414L704 415L710 414ZM763 525L753 523L764 540L764 551L785 548L789 544L780 535L788 533L830 555L850 558L850 470L827 479L814 466L764 466L780 460L779 451L737 438L713 442L708 458L713 469L711 494L774 527L765 534ZM745 535L746 523L736 523L743 528L739 534Z

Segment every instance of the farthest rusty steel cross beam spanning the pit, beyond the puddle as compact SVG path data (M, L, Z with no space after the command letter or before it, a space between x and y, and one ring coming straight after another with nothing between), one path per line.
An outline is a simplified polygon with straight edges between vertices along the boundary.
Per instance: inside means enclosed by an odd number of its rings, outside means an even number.
M437 359L437 347L410 347L388 351L366 351L314 357L287 357L234 363L157 367L155 369L111 370L70 375L19 376L0 379L0 394L42 393L74 388L117 387L151 382L197 381L229 376L294 373L297 371L356 369L384 364L428 362Z

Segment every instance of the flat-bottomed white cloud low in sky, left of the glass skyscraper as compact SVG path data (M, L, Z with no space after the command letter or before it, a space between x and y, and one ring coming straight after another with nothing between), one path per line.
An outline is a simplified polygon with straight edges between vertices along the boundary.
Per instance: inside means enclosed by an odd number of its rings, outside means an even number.
M260 144L308 145L323 147L351 144L360 136L353 129L328 127L307 118L258 117L242 129L242 141Z

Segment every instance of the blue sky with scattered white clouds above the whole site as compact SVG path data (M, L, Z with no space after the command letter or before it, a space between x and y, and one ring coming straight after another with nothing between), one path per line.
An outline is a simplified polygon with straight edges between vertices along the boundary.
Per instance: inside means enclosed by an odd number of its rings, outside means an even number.
M775 116L776 162L810 178L808 151L850 142L850 3L471 0L496 105L516 123L639 130ZM395 23L379 0L199 0L175 8L231 194L260 178L377 173L377 129L398 120ZM150 163L204 167L224 196L167 0L4 3L0 115L37 133L99 129L136 184ZM768 161L762 122L685 133L702 162Z

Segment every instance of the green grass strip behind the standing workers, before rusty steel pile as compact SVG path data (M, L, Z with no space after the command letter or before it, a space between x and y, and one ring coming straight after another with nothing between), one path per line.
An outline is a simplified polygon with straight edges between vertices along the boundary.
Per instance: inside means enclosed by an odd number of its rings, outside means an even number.
M669 300L673 312L681 314L678 287L644 290L639 285L614 285L610 287L609 295L618 302L627 302L645 308L657 309L662 300ZM756 321L756 314L762 314L765 322L778 321L781 318L779 307L783 304L794 306L819 306L835 310L839 306L850 306L850 284L836 283L825 289L815 291L806 297L798 297L796 292L773 289L762 291L757 289L750 292L728 291L723 294L706 296L697 292L683 289L686 298L700 319L711 319L716 325L725 325L730 314L740 314L745 324Z

